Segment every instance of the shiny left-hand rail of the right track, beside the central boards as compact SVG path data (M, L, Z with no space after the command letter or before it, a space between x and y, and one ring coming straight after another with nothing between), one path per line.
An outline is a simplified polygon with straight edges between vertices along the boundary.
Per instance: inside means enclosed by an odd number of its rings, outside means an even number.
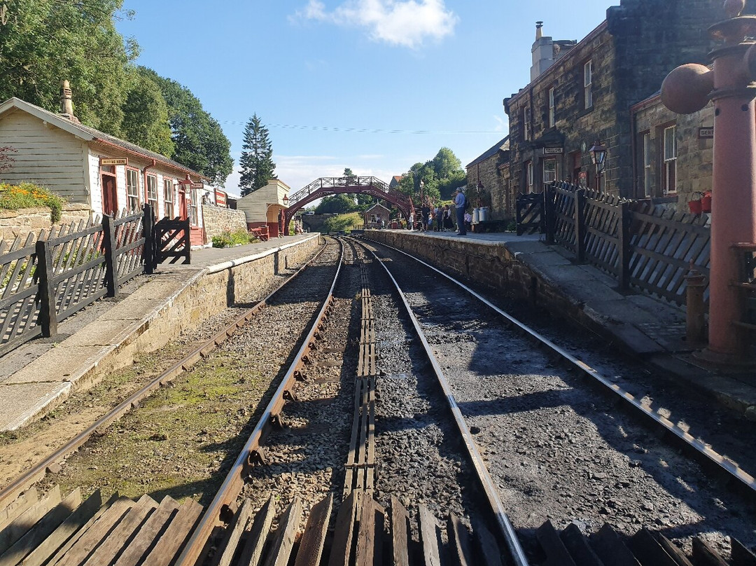
M380 260L380 258L373 250L367 249L367 251L369 251L375 258L376 262L386 270L386 274L389 275L389 278L395 285L396 291L401 298L401 302L404 304L404 309L407 310L407 315L410 317L412 325L415 328L415 332L417 332L417 336L420 338L420 342L423 344L426 356L428 356L428 359L433 367L433 371L435 372L435 376L438 379L438 384L441 385L446 400L449 403L449 409L451 409L451 414L454 417L455 423L457 424L457 429L462 435L469 458L472 461L472 465L476 469L477 477L481 484L482 490L485 493L486 499L488 499L489 505L491 505L491 511L496 516L501 536L503 537L503 540L507 544L507 548L510 551L510 558L512 558L513 563L516 564L516 566L528 566L528 559L525 557L525 551L522 549L522 546L519 543L519 539L517 538L517 534L514 530L514 527L512 526L510 518L507 516L507 512L504 510L497 487L494 485L494 481L491 479L491 474L488 473L488 467L485 465L485 461L483 460L483 457L478 450L478 446L476 446L475 440L472 438L472 433L469 431L469 427L467 426L467 422L462 415L462 411L460 411L460 407L457 405L457 400L454 399L454 392L451 390L451 386L449 385L449 382L444 375L444 371L441 369L441 365L438 363L438 360L433 354L433 350L426 339L425 333L420 327L420 322L412 312L412 307L410 306L410 303L407 302L407 297L404 297L404 291L402 291L401 287L399 287L398 281L396 281L394 275L392 275L392 273L389 271L389 268L386 267L383 261Z

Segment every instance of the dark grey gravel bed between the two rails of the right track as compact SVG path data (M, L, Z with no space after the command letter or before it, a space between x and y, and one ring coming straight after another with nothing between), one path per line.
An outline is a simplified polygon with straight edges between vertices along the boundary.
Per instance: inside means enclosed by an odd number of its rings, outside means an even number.
M699 465L441 276L378 249L392 258L389 267L478 432L476 442L521 534L550 518L556 527L575 521L588 532L605 522L626 534L645 525L687 550L692 535L723 552L727 535L756 544L753 509L710 485Z

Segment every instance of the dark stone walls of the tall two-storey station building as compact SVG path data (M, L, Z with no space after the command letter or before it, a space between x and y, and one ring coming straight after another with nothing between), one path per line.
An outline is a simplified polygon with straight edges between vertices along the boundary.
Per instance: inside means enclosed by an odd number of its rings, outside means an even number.
M590 147L608 149L603 190L636 194L633 129L629 108L654 95L680 64L708 63L714 45L707 28L723 19L723 3L711 0L621 0L596 27L505 106L510 116L511 178L514 192L526 192L526 163L533 163L533 188L541 191L544 148L562 148L556 159L560 179L595 187ZM592 64L593 106L584 104L584 64ZM549 127L549 91L554 89L555 125ZM531 111L525 139L523 112Z

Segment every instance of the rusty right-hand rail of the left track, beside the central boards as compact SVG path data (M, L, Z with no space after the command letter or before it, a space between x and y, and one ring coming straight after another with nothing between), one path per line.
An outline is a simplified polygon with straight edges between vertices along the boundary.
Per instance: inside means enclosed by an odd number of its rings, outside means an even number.
M212 536L213 530L224 522L223 519L225 518L226 512L230 510L232 504L240 495L244 486L244 472L250 465L250 456L253 454L253 451L259 449L261 446L265 429L271 424L271 418L274 415L277 415L283 407L283 404L285 403L283 393L290 390L294 381L296 381L295 374L296 372L299 372L304 365L304 358L314 345L315 333L321 328L327 310L330 308L333 301L333 290L336 288L336 283L339 281L339 275L344 260L344 244L341 240L338 241L341 246L341 254L338 267L336 268L336 275L333 277L328 296L323 302L318 317L314 320L305 341L302 343L302 347L300 347L299 351L296 353L286 375L281 379L280 385L273 394L268 406L265 407L265 412L263 412L262 416L259 418L252 434L249 435L249 438L244 444L234 465L231 466L231 470L228 472L218 493L215 494L215 498L212 499L212 502L207 506L205 512L203 512L200 522L192 531L190 539L187 541L186 546L184 546L184 550L181 552L181 555L179 555L174 566L194 566L194 564L197 563L197 560L205 549L207 541L210 536Z

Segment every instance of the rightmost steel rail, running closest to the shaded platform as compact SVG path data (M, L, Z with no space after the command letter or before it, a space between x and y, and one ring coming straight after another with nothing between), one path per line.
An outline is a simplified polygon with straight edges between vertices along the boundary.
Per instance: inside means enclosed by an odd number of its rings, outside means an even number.
M712 450L706 443L698 440L696 437L693 437L692 434L683 431L682 428L675 425L674 422L670 421L668 418L659 415L658 412L644 407L633 394L628 393L619 385L612 383L612 381L603 376L600 372L598 372L598 370L593 369L592 367L590 367L590 365L587 365L587 363L583 362L581 359L576 358L571 353L557 346L547 337L541 336L541 334L538 334L538 332L534 331L532 328L529 328L527 325L515 319L513 316L510 316L508 313L504 312L498 306L494 305L494 303L491 303L491 301L483 297L478 292L473 291L461 281L457 281L457 279L451 277L451 275L447 275L445 272L442 272L442 270L435 268L429 263L426 263L423 260L420 260L417 257L404 252L403 250L399 250L398 248L382 244L380 242L375 243L380 244L384 247L388 247L389 249L395 250L398 253L403 254L404 256L412 258L423 266L426 266L439 275L444 276L455 285L458 285L460 288L463 288L463 290L472 295L472 297L475 297L486 306L497 312L500 316L503 316L504 319L507 319L510 324L516 326L522 332L528 334L528 336L533 338L535 341L538 341L544 346L550 348L550 350L553 350L554 353L562 356L563 359L569 361L573 366L580 369L584 375L592 378L593 382L600 384L604 391L612 394L613 397L624 401L624 403L626 403L628 407L630 407L631 409L636 409L638 412L640 412L641 415L645 416L646 418L651 419L652 424L662 427L666 433L671 435L672 438L680 441L680 443L682 443L682 446L691 449L693 454L698 456L698 458L702 460L702 462L714 465L714 468L720 471L720 473L725 474L725 477L731 480L736 480L736 486L742 487L742 490L744 490L746 495L750 496L751 499L756 500L756 479L754 479L751 474L748 474L748 472L740 468L739 465L737 465L735 462L730 462L730 460L721 456L719 452Z

